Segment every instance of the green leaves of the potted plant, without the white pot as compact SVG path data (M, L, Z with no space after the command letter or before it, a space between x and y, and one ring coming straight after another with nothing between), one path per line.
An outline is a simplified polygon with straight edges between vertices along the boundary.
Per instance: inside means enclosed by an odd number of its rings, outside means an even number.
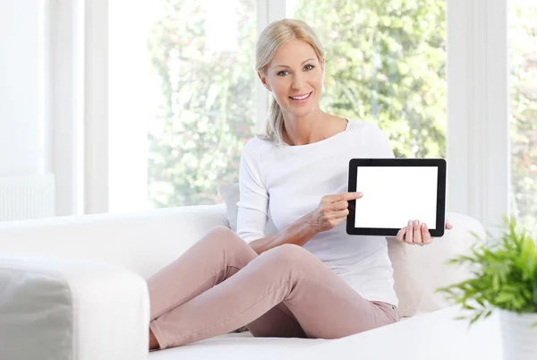
M474 244L468 254L448 263L468 267L473 277L439 288L447 299L469 311L459 319L470 324L490 316L494 308L515 313L537 313L537 246L515 219L494 244Z

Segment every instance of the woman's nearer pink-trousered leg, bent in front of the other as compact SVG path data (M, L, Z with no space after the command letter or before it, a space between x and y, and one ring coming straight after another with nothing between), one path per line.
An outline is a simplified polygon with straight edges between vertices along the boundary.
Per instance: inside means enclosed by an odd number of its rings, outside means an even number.
M245 324L254 333L271 320L262 315L280 303L309 338L341 338L398 321L393 306L363 299L307 250L284 244L164 313L151 322L151 330L163 348L208 339Z

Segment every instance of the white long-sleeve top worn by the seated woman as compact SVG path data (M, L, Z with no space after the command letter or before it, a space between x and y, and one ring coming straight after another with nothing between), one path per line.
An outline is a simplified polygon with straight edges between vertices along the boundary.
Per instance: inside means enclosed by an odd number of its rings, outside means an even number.
M237 234L250 243L265 236L268 218L280 230L315 210L323 196L346 193L349 160L356 158L394 158L378 126L351 119L342 133L297 146L251 139L241 157ZM350 236L344 222L303 247L362 297L398 305L385 237Z

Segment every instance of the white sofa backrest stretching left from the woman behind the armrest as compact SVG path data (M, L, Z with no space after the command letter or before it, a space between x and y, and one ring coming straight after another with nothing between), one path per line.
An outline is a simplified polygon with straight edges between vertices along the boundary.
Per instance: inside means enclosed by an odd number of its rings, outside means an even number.
M0 222L0 252L112 262L148 279L217 226L228 226L223 204Z

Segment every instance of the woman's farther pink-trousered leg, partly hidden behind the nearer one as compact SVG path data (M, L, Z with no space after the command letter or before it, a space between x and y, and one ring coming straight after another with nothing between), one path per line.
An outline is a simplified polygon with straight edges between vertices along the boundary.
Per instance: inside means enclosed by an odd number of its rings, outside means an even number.
M158 319L230 278L256 257L258 254L233 231L215 227L181 257L148 279L150 320ZM196 315L203 317L203 313L201 308ZM305 337L284 304L270 309L261 318L250 329L254 336ZM188 326L188 321L184 325ZM149 348L158 347L157 340L153 331L149 331Z

